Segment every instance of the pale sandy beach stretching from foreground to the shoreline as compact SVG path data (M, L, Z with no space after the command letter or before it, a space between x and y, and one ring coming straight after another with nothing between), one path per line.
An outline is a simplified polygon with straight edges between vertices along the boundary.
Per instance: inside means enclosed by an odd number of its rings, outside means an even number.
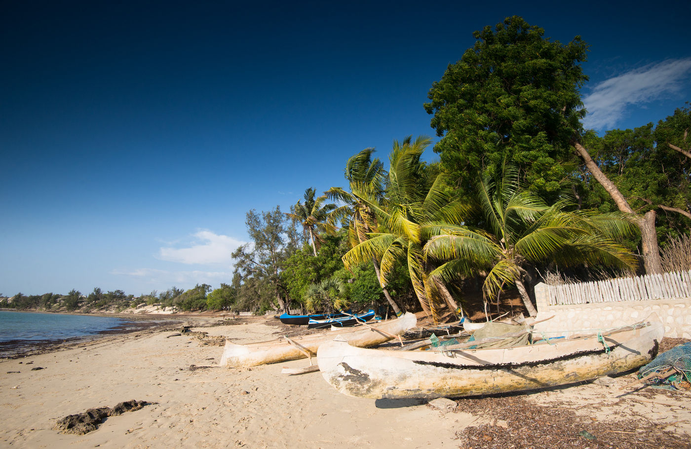
M192 330L249 343L276 338L280 330L271 319L238 318L229 322L239 324ZM522 430L518 421L501 414L518 407L522 413L533 410L538 417L553 417L551 425L567 413L574 429L591 429L596 440L575 432L567 435L576 447L608 447L598 446L608 441L631 443L616 447L653 447L641 442L641 435L658 441L658 448L691 444L691 394L652 388L625 394L634 388L619 387L634 381L633 374L618 377L609 386L583 383L509 398L460 399L456 410L442 412L426 401L345 397L319 372L281 374L281 367L305 366L306 360L243 369L219 367L222 346L211 339L174 334L172 329L149 329L0 361L1 446L510 447L496 446L502 433L507 438L511 432L526 436L534 424L521 423ZM109 417L88 434L53 430L55 422L68 414L131 399L151 405ZM549 429L549 422L536 422ZM515 441L523 447L521 439ZM532 444L549 447L547 441L536 439Z

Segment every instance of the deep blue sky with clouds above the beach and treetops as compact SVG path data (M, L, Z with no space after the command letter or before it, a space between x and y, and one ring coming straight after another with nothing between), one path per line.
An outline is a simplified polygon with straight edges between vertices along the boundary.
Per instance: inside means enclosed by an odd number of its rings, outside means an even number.
M249 209L434 135L431 84L511 15L590 44L591 128L691 99L691 4L519 3L3 2L0 294L229 282Z

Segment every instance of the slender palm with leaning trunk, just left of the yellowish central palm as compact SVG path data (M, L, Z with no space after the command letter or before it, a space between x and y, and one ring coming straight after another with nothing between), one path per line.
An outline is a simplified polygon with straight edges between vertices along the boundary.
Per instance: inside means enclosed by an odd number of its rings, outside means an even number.
M367 240L368 233L377 229L377 217L372 213L372 209L358 198L352 191L359 191L362 195L381 201L384 197L384 185L386 183L386 170L379 158L372 160L372 153L375 149L366 148L356 155L350 157L345 164L345 179L350 184L350 192L341 187L332 187L324 193L330 200L338 200L345 203L343 206L334 209L330 214L332 223L342 222L348 225L348 240L350 246L355 247L364 240ZM372 257L372 265L375 267L377 279L381 286L384 296L391 305L396 316L401 316L403 312L391 298L388 289L381 283L381 272L377 258Z

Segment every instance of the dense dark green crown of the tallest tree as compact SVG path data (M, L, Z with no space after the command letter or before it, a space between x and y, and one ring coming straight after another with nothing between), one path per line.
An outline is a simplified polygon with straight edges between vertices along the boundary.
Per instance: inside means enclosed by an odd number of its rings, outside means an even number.
M435 151L465 190L467 175L510 160L527 188L556 193L573 164L571 140L585 115L578 88L587 81L580 62L587 44L549 41L545 30L508 17L477 41L430 88L424 105L444 136Z

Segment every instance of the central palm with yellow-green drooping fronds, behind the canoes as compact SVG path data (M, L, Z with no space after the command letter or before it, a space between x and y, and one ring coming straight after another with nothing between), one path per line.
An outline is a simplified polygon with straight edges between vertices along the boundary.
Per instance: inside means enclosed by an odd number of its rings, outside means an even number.
M352 195L375 213L379 229L367 234L343 256L346 267L376 258L379 261L381 285L399 263L407 263L410 280L422 309L435 320L438 306L444 300L439 292L441 278L429 278L430 265L423 254L426 240L439 225L460 222L465 211L460 202L448 195L444 175L434 175L426 169L420 157L430 144L430 138L408 136L394 142L390 154L390 171L385 200L378 200L361 186L351 186ZM446 298L448 299L448 298ZM457 309L450 298L449 307Z

